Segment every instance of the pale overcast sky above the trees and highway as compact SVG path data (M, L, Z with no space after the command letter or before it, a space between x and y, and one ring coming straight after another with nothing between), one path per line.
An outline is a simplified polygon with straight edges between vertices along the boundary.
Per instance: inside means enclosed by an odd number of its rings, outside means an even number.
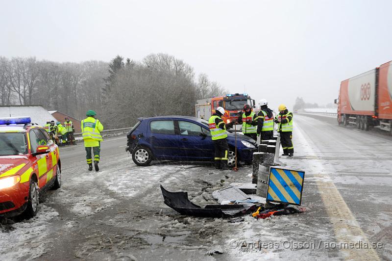
M340 82L392 60L386 0L0 0L0 55L141 60L164 52L276 109L338 98Z

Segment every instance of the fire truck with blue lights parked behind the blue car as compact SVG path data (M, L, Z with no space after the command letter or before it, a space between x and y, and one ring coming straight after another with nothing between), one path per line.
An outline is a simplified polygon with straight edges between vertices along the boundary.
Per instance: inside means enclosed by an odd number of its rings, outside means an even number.
M229 123L244 112L244 104L249 104L253 107L253 110L256 108L254 100L250 99L247 93L227 94L225 96L197 100L195 105L196 117L208 121L211 115L215 113L215 109L221 106L224 108L222 120Z

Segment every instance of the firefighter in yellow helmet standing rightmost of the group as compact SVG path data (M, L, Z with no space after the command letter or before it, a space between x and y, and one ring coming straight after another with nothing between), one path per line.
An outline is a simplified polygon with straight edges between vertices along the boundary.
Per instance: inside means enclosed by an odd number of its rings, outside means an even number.
M275 123L278 124L280 133L280 143L282 144L282 156L293 157L293 113L289 112L284 104L279 105L279 114L275 117Z

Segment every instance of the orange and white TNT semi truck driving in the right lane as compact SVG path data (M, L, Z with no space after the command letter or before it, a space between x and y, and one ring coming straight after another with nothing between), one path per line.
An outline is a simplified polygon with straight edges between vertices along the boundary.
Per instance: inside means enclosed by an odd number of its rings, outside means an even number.
M392 134L392 61L343 80L335 104L340 125L376 127Z

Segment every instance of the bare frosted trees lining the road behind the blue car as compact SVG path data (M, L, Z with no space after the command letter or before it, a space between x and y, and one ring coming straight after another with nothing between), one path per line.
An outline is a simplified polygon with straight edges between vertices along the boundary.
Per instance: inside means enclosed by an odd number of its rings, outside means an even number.
M96 110L106 129L138 117L195 115L195 102L226 90L181 59L165 53L142 61L117 55L110 63L0 56L0 105L43 105L82 119Z

